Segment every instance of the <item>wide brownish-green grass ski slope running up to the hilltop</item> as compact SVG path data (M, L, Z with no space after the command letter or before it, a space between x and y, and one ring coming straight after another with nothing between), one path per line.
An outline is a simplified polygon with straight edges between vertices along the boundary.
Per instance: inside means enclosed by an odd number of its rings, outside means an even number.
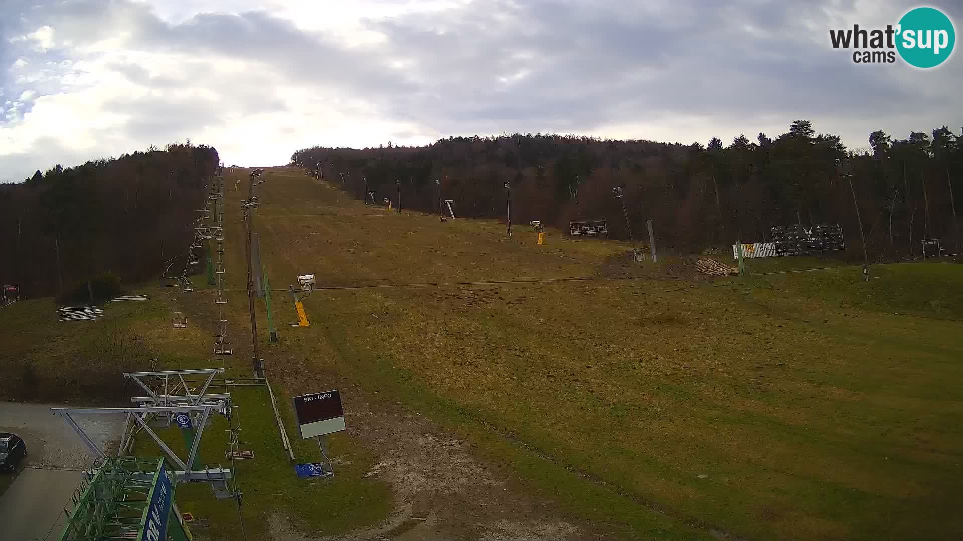
M283 169L261 201L273 283L434 284L316 291L280 354L452 427L573 517L627 538L963 531L960 323L892 313L955 313L958 267L457 285L604 275L625 245L389 215Z

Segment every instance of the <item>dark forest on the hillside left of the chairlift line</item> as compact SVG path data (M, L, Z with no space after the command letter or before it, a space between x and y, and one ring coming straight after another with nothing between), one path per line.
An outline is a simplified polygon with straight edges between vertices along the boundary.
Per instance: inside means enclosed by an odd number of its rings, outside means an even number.
M36 297L104 272L159 277L193 239L218 164L217 150L188 141L0 184L0 281Z

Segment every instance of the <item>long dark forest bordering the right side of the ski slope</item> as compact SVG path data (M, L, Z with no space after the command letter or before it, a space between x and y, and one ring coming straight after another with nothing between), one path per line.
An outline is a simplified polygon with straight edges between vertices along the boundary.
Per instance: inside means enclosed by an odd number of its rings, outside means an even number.
M838 223L848 259L862 258L859 224L872 261L920 257L924 239L959 251L953 194L963 191L963 149L946 126L895 139L882 131L847 149L838 136L795 120L789 131L728 145L612 141L551 134L449 138L423 147L305 148L291 164L358 199L423 212L455 201L458 216L531 219L567 232L569 220L607 219L628 239L621 201L637 239L651 219L657 245L681 253L771 242L777 225ZM368 195L367 193L374 193ZM859 219L857 212L859 211Z

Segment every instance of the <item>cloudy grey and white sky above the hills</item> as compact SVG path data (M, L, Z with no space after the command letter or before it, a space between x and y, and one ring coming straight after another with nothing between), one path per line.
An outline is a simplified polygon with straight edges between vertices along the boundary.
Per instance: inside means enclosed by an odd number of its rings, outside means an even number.
M724 5L724 6L723 6ZM167 142L227 165L449 135L667 142L795 118L850 147L963 125L963 60L853 64L901 0L0 0L0 182ZM963 21L963 3L929 4ZM957 47L959 48L959 47Z

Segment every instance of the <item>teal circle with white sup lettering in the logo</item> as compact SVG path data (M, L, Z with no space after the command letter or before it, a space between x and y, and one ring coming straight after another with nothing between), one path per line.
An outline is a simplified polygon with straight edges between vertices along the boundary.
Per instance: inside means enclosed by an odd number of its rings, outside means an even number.
M910 65L934 67L946 62L956 43L950 17L935 8L916 8L899 19L897 50Z

